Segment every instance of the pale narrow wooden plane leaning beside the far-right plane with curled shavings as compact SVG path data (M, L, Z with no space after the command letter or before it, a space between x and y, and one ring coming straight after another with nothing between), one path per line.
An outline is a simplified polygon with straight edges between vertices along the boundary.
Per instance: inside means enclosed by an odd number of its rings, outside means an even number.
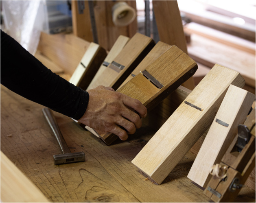
M206 139L201 146L188 178L206 188L210 168L221 159L236 136L237 127L243 124L255 96L244 89L230 85L216 114Z

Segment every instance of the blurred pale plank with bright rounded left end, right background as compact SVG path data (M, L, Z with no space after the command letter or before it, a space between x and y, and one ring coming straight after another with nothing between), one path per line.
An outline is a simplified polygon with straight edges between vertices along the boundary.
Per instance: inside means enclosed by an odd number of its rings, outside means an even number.
M188 34L197 34L221 44L232 46L234 48L246 51L255 55L255 43L246 39L224 33L213 28L191 22L184 26L184 31Z

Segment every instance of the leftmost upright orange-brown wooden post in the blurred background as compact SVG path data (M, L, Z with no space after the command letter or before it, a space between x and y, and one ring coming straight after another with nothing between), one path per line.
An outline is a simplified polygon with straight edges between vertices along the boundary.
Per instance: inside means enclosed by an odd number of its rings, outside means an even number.
M81 13L79 13L78 2L81 2L84 7ZM72 28L75 36L93 41L88 0L72 0Z

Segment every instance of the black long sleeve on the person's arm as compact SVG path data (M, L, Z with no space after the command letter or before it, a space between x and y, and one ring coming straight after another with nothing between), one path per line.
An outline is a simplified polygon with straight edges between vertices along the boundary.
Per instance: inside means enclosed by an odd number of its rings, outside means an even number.
M0 30L0 83L61 114L80 119L89 94L46 68L15 39Z

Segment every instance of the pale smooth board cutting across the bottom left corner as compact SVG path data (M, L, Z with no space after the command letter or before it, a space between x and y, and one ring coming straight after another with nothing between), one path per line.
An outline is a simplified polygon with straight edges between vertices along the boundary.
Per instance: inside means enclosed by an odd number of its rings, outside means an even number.
M49 202L7 156L0 151L0 202Z

